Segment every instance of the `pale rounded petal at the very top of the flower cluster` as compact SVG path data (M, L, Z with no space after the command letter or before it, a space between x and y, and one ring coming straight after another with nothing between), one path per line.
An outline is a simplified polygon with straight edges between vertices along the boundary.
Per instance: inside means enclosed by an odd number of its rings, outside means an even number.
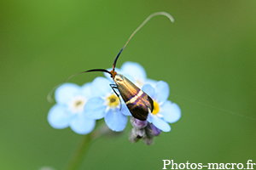
M130 75L134 79L141 80L142 82L144 82L147 78L147 73L143 66L131 61L126 61L121 66L121 72L124 75Z

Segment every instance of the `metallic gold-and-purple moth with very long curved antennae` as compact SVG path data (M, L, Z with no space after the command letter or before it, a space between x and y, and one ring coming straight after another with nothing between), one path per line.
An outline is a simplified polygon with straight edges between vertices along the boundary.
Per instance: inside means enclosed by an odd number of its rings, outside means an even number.
M110 74L110 76L113 78L114 84L110 84L111 88L113 89L113 92L119 97L119 94L121 95L121 98L124 99L125 105L127 105L129 111L131 112L131 115L135 118L146 121L148 118L148 114L154 110L154 101L151 99L148 94L144 93L142 89L138 88L134 83L132 83L129 79L127 79L125 76L118 74L115 69L115 65L117 63L117 60L119 59L119 55L122 53L123 49L126 47L128 42L130 42L131 37L134 36L134 34L139 31L151 18L157 15L165 15L167 18L171 20L171 22L174 21L171 14L168 14L166 12L156 12L153 14L150 14L146 20L143 21L143 23L137 27L135 31L131 34L128 41L125 43L125 46L121 48L119 51L119 54L116 56L116 58L113 61L113 69L112 71L108 71L105 69L92 69L89 71L83 71L79 72L77 74L74 74L71 77L68 77L64 82L67 82L70 78L85 73L85 72L93 72L93 71L102 71L107 72ZM64 82L61 82L64 83ZM50 101L50 95L52 92L58 88L61 84L56 86L51 90L51 92L48 95L48 100ZM119 94L115 91L115 89L119 90Z

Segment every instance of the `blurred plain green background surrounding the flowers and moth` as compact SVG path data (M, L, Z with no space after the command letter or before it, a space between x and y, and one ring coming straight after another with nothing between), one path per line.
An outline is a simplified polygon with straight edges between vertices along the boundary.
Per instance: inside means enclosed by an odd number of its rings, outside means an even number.
M0 169L67 165L83 136L49 126L53 104L46 95L74 73L111 67L132 31L157 11L172 14L175 22L150 20L117 67L135 61L149 78L168 82L182 118L151 146L131 144L130 125L118 139L96 140L81 169L162 169L163 159L256 163L255 8L252 0L2 0ZM101 75L70 82L82 85Z

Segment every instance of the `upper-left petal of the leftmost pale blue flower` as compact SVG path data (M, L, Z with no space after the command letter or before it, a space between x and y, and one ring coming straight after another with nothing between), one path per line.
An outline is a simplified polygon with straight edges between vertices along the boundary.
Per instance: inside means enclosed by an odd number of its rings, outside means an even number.
M55 100L58 104L67 105L70 99L79 94L79 90L79 85L66 82L55 90Z

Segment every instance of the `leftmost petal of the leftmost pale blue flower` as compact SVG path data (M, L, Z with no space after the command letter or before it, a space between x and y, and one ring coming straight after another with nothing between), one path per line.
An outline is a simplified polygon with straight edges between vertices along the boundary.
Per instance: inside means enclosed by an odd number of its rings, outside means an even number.
M54 105L50 108L47 120L49 125L54 128L66 128L73 115L67 112L66 108L61 105Z

